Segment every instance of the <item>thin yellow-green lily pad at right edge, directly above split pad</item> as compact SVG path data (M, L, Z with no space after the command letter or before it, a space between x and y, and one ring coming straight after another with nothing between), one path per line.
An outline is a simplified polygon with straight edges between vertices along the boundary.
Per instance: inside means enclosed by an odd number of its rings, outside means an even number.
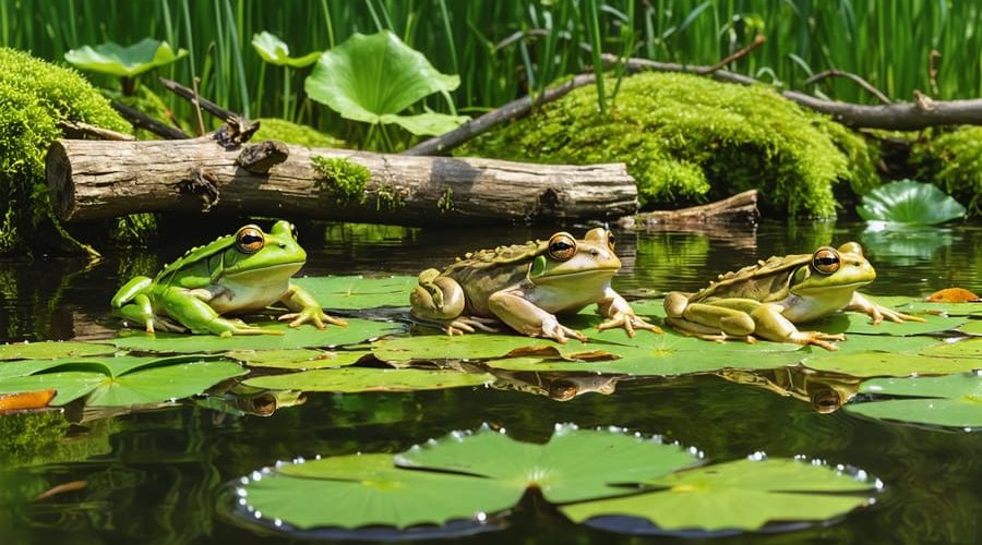
M931 358L890 352L833 353L807 358L804 365L816 371L855 377L947 375L982 367L978 358Z

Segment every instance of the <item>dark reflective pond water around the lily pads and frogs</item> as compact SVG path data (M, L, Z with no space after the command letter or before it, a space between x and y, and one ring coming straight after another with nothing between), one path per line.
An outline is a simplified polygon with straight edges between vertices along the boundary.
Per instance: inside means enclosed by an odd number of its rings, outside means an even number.
M231 232L238 226L228 226ZM580 234L579 227L570 228ZM217 234L217 233L214 233ZM398 274L442 266L466 251L546 238L543 228L404 229L311 226L301 231L307 275ZM861 242L877 270L864 292L925 295L959 286L982 292L982 226L875 233L857 223L764 223L755 232L618 232L625 294L696 290L717 274L770 255ZM202 239L208 239L207 235ZM99 338L117 287L156 270L187 245L127 252L97 264L37 258L0 262L0 340ZM189 241L193 243L202 241ZM848 342L848 341L847 341ZM398 452L481 423L541 443L556 423L623 426L695 445L717 461L755 451L851 464L886 485L875 505L795 532L744 534L720 543L982 541L982 434L822 414L793 396L716 375L624 379L610 395L556 401L516 390L456 388L414 393L311 393L272 415L232 416L192 402L71 425L69 411L3 426L0 543L276 543L289 536L243 526L228 514L225 483L297 456ZM0 416L0 424L20 416ZM5 421L3 419L7 419ZM12 432L34 427L15 436ZM47 432L37 432L46 429ZM14 463L32 462L13 470ZM50 498L19 501L12 491L85 482ZM81 485L80 485L81 486ZM503 530L474 543L618 542L631 537L573 524L535 494ZM664 541L678 540L664 536Z

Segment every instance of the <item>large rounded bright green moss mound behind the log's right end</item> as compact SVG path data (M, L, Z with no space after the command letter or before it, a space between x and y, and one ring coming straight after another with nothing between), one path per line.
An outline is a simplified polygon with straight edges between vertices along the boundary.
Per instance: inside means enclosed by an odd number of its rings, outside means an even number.
M613 82L608 83L613 88ZM685 74L624 80L601 117L594 86L460 150L539 162L623 161L643 206L680 206L756 187L762 204L791 216L836 214L834 189L878 183L865 140L766 86Z

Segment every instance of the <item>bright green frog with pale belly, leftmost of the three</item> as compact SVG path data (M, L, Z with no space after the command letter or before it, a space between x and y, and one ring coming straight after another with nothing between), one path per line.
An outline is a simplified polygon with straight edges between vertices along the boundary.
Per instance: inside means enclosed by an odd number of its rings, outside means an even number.
M221 337L282 335L224 315L260 311L273 303L290 312L279 316L291 327L313 324L347 326L328 316L321 304L290 277L307 262L297 242L297 228L279 220L268 233L255 225L239 228L192 247L165 266L154 278L137 276L112 296L113 312L143 326L146 332L191 331Z

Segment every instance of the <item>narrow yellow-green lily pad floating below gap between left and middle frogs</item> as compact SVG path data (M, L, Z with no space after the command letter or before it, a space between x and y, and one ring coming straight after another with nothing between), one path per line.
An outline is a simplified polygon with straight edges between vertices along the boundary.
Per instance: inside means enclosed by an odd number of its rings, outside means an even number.
M493 379L494 377L487 373L460 373L450 370L342 367L249 378L244 384L271 390L358 392L439 390L481 386Z

